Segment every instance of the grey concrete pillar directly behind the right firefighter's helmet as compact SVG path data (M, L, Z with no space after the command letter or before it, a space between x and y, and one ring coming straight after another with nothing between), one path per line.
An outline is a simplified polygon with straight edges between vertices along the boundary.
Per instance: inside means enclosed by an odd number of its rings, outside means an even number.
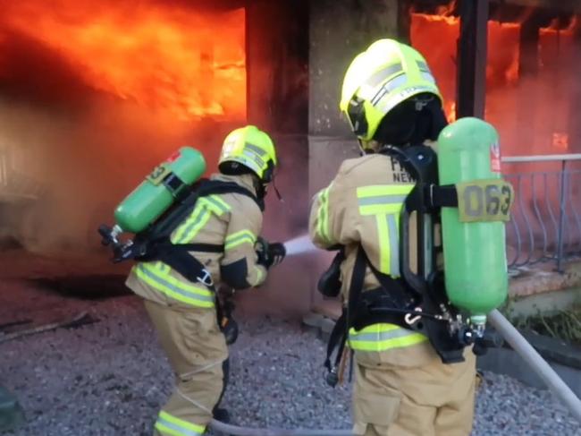
M407 40L405 4L398 0L310 2L309 197L331 182L345 158L358 156L357 141L339 113L343 75L352 59L376 39ZM310 283L311 304L321 301L316 278L332 259L333 253L321 252L311 262L316 271Z

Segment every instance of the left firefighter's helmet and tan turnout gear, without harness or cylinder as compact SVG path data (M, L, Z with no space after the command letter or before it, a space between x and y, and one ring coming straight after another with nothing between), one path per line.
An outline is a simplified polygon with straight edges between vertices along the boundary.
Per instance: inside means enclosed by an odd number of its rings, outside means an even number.
M217 321L215 286L258 286L265 281L267 270L282 261L283 253L274 259L257 252L262 227L259 204L276 163L273 141L257 127L230 133L223 143L220 174L210 180L236 184L249 194L200 197L171 235L176 245L222 247L215 252L189 252L203 265L206 277L202 274L192 282L162 261L140 261L127 279L127 286L145 301L176 378L173 395L157 417L156 435L202 435L223 394L228 349ZM270 250L279 245L271 244Z

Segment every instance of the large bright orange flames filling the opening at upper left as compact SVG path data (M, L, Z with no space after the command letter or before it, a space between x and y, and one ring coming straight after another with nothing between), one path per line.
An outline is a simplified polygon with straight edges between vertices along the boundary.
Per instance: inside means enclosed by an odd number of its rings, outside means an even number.
M181 120L246 117L243 9L209 14L155 0L0 0L0 9L0 37L37 40L95 90Z

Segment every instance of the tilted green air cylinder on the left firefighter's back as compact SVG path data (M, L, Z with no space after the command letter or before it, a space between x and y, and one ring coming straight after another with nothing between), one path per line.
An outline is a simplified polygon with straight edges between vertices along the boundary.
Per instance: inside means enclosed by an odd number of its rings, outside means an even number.
M182 147L147 175L115 209L115 221L123 232L139 233L154 223L188 185L206 171L202 153Z

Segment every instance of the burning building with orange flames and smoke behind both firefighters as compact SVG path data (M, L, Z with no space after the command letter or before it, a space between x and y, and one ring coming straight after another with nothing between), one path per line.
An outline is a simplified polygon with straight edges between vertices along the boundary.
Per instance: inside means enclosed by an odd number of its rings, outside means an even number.
M284 202L269 199L265 235L299 235L309 196L354 155L337 109L342 74L376 38L425 55L450 120L459 99L485 90L505 155L578 152L581 7L555 3L491 1L477 13L487 50L473 60L485 73L467 86L455 2L0 0L0 227L31 250L97 250L98 224L159 160L189 144L215 170L225 133L252 123L274 133L282 162ZM313 279L289 276L273 279L266 303L292 287L304 309Z

